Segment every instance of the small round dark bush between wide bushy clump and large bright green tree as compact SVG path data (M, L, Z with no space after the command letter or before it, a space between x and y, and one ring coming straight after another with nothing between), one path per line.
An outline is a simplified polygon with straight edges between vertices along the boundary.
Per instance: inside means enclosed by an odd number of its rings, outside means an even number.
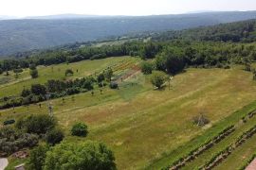
M46 133L47 144L60 144L64 140L64 132L60 128L52 128Z

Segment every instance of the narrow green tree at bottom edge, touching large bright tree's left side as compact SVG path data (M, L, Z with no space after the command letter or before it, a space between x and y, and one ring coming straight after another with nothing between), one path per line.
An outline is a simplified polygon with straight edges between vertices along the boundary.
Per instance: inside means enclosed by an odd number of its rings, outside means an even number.
M49 150L47 144L40 144L29 153L27 161L28 170L43 170L46 161L46 152Z

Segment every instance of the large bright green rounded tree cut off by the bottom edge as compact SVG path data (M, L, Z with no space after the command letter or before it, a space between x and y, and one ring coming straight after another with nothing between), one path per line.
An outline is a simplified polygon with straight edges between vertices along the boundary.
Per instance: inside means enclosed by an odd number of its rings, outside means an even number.
M105 144L87 141L82 144L64 142L46 153L44 170L90 169L116 170L113 152Z

